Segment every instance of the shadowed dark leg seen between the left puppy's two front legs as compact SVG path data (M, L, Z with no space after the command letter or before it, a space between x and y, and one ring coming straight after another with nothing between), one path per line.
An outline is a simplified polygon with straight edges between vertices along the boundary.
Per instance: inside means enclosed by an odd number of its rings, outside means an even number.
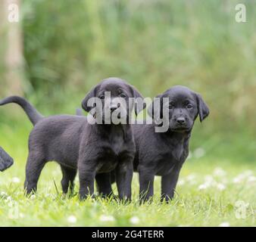
M95 179L98 187L98 194L103 197L109 197L113 194L111 188L111 173L99 173L95 175Z

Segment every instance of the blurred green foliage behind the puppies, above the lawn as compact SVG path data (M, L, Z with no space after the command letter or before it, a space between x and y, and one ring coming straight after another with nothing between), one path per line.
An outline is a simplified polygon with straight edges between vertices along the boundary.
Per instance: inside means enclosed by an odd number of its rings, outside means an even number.
M246 23L236 22L238 3L246 5ZM255 23L252 0L20 0L19 23L0 25L0 97L23 95L52 115L75 113L108 76L126 79L145 97L186 85L211 109L195 124L192 154L199 148L211 160L255 163ZM20 35L16 66L5 58L12 28ZM20 107L0 108L6 150L14 140L24 149L31 127Z

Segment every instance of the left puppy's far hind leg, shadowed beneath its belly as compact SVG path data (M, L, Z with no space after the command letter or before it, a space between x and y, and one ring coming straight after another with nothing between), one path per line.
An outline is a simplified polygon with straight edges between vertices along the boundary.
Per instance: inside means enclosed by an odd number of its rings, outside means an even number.
M67 166L61 165L62 180L61 186L64 194L67 194L68 188L70 188L70 193L73 194L73 181L76 178L76 169L69 168Z

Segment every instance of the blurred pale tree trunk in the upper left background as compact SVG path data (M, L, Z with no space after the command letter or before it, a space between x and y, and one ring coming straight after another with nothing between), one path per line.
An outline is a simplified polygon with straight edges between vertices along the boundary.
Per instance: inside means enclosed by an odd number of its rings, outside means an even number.
M1 95L22 95L23 72L23 38L20 19L10 22L8 15L11 4L18 6L20 15L20 0L0 1L0 75ZM20 17L20 16L19 16Z

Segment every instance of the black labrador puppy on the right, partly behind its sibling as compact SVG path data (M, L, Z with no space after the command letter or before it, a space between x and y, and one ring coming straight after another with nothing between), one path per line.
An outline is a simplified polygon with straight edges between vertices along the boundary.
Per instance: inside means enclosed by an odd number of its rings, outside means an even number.
M197 116L203 121L209 114L201 95L184 86L174 86L157 98L160 98L158 110L154 107L154 101L148 107L148 114L154 123L133 126L136 141L134 169L139 172L142 201L153 196L155 175L161 175L161 200L173 198L180 169L189 154L189 138L194 121ZM167 98L165 103L164 98ZM168 113L165 117L164 109ZM156 113L162 122L156 122ZM169 123L167 132L155 132L155 127L163 125L164 121Z

